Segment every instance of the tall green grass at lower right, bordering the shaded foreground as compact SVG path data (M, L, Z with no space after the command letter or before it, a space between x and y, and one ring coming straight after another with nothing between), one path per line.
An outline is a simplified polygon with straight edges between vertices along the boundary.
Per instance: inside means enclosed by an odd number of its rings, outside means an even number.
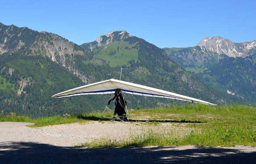
M175 132L174 132L175 133ZM256 146L256 131L253 127L217 125L203 127L202 131L191 131L184 137L161 131L144 131L142 134L131 134L128 139L112 140L102 138L83 143L82 147L140 147L140 146Z

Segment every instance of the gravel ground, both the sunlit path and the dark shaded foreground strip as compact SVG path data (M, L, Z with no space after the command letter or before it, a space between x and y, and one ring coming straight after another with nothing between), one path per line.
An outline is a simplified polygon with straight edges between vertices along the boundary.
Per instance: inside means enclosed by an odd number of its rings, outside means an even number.
M255 163L255 147L76 148L91 139L122 139L144 131L137 123L90 122L30 128L0 122L0 163ZM145 126L147 125L147 126ZM189 131L182 124L144 124L154 130Z

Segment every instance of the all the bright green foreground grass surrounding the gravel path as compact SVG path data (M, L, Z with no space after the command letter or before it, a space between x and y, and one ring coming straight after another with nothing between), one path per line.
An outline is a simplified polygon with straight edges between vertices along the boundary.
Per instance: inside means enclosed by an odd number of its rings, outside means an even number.
M106 115L112 115L112 112ZM152 120L190 120L203 121L202 124L186 124L192 129L184 137L172 133L144 132L141 135L131 135L129 140L113 141L100 139L82 144L86 147L126 147L126 146L172 146L172 145L206 145L206 146L256 146L256 108L252 106L212 107L205 105L173 106L156 109L130 110L131 119ZM61 119L58 116L44 117L32 120L25 116L0 117L1 121L33 122L33 127L52 124L83 122L84 120L101 120L100 113L72 116ZM143 123L147 124L147 123ZM143 125L142 124L142 125Z

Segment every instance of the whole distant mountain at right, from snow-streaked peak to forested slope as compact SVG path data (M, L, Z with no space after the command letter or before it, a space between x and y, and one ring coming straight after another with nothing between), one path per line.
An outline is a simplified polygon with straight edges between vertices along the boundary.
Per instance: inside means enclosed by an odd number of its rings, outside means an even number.
M222 37L206 37L195 47L164 50L212 88L255 103L256 40L234 43Z

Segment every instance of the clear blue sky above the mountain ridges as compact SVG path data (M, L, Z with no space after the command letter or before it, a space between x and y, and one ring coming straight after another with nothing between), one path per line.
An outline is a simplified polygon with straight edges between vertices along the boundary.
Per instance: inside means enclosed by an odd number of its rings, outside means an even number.
M256 39L256 2L1 0L0 22L56 33L77 44L126 30L158 47L189 47L207 36Z

